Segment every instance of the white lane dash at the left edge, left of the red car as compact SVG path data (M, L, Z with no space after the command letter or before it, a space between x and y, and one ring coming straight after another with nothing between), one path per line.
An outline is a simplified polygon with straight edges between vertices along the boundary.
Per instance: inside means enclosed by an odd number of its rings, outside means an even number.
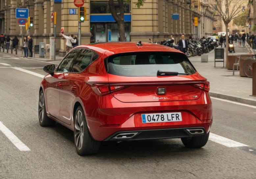
M0 131L11 141L20 151L30 151L30 149L20 141L1 121Z

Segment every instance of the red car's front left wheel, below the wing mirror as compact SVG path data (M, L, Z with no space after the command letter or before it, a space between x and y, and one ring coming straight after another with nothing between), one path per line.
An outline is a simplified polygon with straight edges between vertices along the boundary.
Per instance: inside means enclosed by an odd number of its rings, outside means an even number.
M53 126L56 123L55 120L49 118L46 114L43 90L41 90L39 93L38 118L39 118L39 124L42 127Z

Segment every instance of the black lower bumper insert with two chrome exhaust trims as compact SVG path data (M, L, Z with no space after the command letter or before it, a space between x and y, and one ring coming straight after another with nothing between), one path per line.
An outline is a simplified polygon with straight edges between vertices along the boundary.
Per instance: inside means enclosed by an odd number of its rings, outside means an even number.
M200 136L206 134L204 127L119 131L104 141L139 141L147 139L171 139Z

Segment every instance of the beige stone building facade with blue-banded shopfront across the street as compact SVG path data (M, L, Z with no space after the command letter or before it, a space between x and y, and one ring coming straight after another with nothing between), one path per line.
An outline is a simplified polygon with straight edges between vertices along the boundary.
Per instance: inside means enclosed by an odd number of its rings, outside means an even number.
M126 41L161 42L171 34L175 41L182 34L186 38L207 37L213 34L213 11L210 10L207 0L147 0L141 8L137 8L137 0L125 4L125 34ZM117 1L116 1L117 3ZM194 8L197 5L197 8ZM86 18L81 23L81 44L91 42L118 41L118 27L108 8L108 1L87 0ZM16 18L16 8L26 8L29 16L34 17L34 26L30 31L19 26ZM118 4L116 4L118 9ZM75 10L75 11L73 11ZM51 13L57 13L56 50L60 56L65 55L65 40L61 39L61 29L66 35L78 34L78 8L74 0L1 0L0 1L0 34L17 36L30 35L34 45L39 42L49 44L50 37L54 36L54 23ZM76 14L74 14L74 12ZM172 19L173 14L179 14L179 20ZM198 26L194 26L194 17L198 17Z

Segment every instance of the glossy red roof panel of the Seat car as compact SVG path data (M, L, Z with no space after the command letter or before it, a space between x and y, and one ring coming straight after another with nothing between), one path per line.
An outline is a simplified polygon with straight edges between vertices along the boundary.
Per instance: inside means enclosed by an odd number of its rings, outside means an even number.
M98 53L105 54L106 56L118 54L118 53L127 53L127 52L147 52L147 51L158 51L158 52L178 52L171 47L164 45L159 45L155 43L141 42L142 45L137 45L137 42L103 42L103 43L91 43L80 45L76 48L89 48Z

